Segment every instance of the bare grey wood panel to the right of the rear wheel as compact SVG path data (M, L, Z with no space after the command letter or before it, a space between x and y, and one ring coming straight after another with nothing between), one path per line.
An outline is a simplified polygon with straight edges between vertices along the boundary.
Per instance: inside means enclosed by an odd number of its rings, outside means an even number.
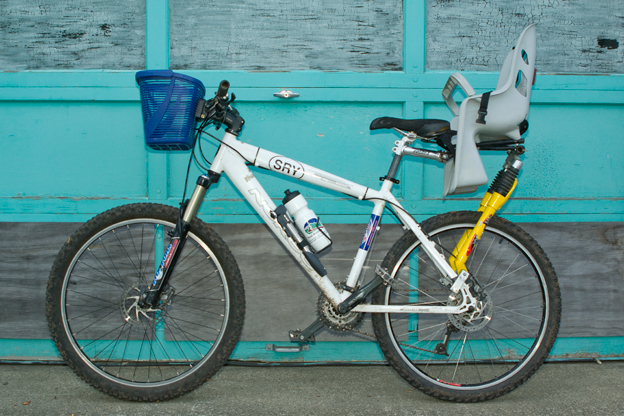
M624 224L522 227L544 248L559 277L563 308L559 336L624 335Z

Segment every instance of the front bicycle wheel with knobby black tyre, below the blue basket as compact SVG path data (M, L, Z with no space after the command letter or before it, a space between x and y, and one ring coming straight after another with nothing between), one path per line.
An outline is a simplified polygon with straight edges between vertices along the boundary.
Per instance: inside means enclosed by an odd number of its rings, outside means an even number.
M229 249L198 219L156 306L141 306L178 210L135 204L80 227L50 273L47 315L61 356L113 396L171 399L215 374L238 342L243 282Z

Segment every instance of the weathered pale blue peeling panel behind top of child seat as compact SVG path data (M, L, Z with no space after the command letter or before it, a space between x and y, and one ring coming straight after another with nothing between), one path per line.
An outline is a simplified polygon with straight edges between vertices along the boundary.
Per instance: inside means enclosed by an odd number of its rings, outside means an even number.
M428 69L499 71L522 29L537 23L537 69L624 73L621 0L428 0Z

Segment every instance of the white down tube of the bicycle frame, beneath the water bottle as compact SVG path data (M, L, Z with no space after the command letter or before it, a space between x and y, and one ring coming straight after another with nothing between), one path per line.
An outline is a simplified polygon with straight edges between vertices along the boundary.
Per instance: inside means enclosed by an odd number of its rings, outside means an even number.
M254 174L245 165L241 157L230 149L223 149L222 158L223 171L258 215L262 217L262 220L269 226L269 229L275 234L282 245L286 247L332 303L337 305L342 302L343 295L338 292L331 280L329 280L327 276L320 276L312 266L310 266L310 263L308 263L295 242L286 235L279 223L271 218L271 212L275 210L276 206ZM348 293L345 292L344 298L346 298L347 295Z

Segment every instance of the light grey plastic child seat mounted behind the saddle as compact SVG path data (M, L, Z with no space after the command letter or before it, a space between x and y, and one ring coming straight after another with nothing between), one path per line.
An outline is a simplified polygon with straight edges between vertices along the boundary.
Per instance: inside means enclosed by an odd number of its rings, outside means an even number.
M490 93L489 100L484 100L484 104L487 102L485 117L481 117L479 109L486 94L475 95L474 89L458 72L446 82L442 96L455 115L451 129L457 131L457 136L452 141L456 146L455 157L444 166L444 196L474 192L488 182L476 143L520 139L519 125L529 115L531 87L535 82L535 43L535 25L530 25L507 55L496 90ZM457 86L467 96L460 107L453 99Z

